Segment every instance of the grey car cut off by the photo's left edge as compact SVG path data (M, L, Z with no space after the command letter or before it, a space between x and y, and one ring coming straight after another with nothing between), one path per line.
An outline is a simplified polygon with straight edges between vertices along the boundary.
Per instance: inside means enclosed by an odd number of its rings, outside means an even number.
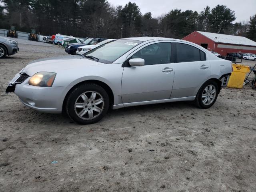
M16 54L18 50L18 42L16 40L0 36L0 59L5 58L6 55Z

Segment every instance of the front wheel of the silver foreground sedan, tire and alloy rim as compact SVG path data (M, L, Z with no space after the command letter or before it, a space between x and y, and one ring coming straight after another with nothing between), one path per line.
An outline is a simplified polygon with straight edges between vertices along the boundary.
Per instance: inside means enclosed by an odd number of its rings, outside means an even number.
M81 84L67 96L66 113L79 124L92 124L101 120L109 108L109 96L101 86Z

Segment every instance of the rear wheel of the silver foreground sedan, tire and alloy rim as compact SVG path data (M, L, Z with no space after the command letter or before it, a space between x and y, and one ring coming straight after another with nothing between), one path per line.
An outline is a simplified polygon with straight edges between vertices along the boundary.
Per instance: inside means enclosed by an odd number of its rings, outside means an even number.
M196 105L203 109L210 108L216 102L218 93L218 84L214 80L206 81L196 95Z

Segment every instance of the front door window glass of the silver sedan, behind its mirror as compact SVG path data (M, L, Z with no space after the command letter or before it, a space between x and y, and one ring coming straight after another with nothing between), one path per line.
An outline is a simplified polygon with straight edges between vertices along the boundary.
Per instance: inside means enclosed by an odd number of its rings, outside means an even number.
M136 52L131 58L142 58L145 60L145 65L170 63L171 44L166 42L148 45Z

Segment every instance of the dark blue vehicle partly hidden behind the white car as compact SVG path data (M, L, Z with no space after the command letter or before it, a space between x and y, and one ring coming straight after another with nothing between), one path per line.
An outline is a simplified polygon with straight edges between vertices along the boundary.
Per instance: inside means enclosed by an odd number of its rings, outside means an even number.
M83 45L96 45L97 43L102 42L104 40L106 40L106 39L104 39L104 38L88 38L82 43L71 43L71 44L68 44L68 46L66 46L65 52L68 54L71 54L71 55L75 55L78 47L83 46Z

